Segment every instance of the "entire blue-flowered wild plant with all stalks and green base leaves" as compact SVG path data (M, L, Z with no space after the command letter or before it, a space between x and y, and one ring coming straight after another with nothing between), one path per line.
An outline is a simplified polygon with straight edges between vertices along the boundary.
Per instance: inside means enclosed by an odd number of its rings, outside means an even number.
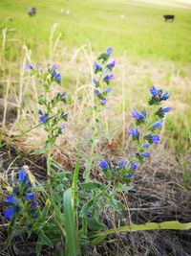
M51 97L52 88L61 83L61 75L57 73L57 66L48 66L45 71L28 64L32 75L42 84L43 94L39 96L39 122L47 132L47 139L40 151L47 156L48 179L42 184L33 184L34 178L24 170L20 170L18 177L10 187L11 195L5 199L4 217L11 221L8 242L4 249L11 244L13 235L35 233L38 236L36 255L40 255L43 245L53 248L55 255L88 255L88 245L101 243L107 235L116 232L145 230L156 228L182 229L190 225L179 222L148 223L144 227L139 225L124 226L117 229L107 229L104 224L104 212L115 209L118 213L124 208L117 198L118 193L128 192L129 184L133 182L138 167L150 157L150 148L158 145L159 131L163 118L170 107L160 105L168 100L169 93L152 86L147 109L132 111L134 125L128 133L135 143L136 151L130 160L118 159L116 162L102 157L99 171L104 176L104 182L91 178L93 171L95 141L99 135L98 125L100 112L108 102L111 93L110 82L114 79L112 71L116 60L109 61L113 49L109 47L94 63L94 105L93 105L93 135L91 151L85 170L80 169L80 141L76 165L73 172L66 172L52 156L56 138L63 133L68 112L64 105L67 103L67 93L57 92ZM79 171L83 175L79 177ZM40 207L35 199L41 198ZM41 208L41 209L40 209ZM189 224L189 223L188 223ZM20 229L18 227L21 227ZM18 232L19 230L19 232ZM17 232L16 232L17 231Z

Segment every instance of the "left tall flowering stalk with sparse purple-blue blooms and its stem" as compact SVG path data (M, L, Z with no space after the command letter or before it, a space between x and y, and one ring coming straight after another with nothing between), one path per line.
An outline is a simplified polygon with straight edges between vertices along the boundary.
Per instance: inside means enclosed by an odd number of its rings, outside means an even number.
M53 84L61 84L61 75L56 71L56 65L52 67L48 66L46 70L34 68L31 64L28 64L27 67L44 88L44 94L40 95L38 99L38 104L40 105L38 114L39 122L45 131L47 131L48 136L43 150L38 152L47 154L47 174L50 176L52 146L56 138L66 128L65 122L68 120L68 113L63 107L63 104L65 105L67 103L68 95L66 92L58 92L53 98L50 96L53 90Z

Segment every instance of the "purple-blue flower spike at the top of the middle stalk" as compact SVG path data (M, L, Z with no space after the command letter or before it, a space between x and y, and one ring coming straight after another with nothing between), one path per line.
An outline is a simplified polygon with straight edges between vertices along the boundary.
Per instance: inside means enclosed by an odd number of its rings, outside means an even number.
M95 96L97 103L100 105L106 105L107 96L112 91L112 88L109 85L114 79L114 75L111 72L116 65L116 60L109 62L112 53L113 49L109 47L105 53L102 53L97 58L97 61L93 66L96 75L93 80L95 84Z

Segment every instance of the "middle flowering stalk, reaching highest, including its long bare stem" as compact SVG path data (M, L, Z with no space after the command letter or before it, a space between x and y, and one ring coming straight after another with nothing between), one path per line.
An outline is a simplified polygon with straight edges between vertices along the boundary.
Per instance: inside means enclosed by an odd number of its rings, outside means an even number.
M89 178L90 170L92 168L93 156L95 151L96 136L98 134L98 124L99 124L99 115L103 107L108 102L108 96L112 92L110 86L111 81L114 79L112 71L116 66L116 60L110 61L110 58L113 54L113 48L109 47L106 52L99 55L97 60L94 62L94 105L93 105L93 136L91 139L91 152L88 162L88 167L86 172L84 172L84 177Z

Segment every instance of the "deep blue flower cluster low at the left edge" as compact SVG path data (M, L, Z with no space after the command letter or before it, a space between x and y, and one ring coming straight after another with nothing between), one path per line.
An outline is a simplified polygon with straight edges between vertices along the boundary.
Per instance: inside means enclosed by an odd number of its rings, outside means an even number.
M7 220L17 217L22 223L36 220L39 214L38 202L32 193L32 182L29 175L23 170L19 170L18 178L11 187L11 195L4 201L6 209L3 215ZM31 221L30 221L31 220Z

